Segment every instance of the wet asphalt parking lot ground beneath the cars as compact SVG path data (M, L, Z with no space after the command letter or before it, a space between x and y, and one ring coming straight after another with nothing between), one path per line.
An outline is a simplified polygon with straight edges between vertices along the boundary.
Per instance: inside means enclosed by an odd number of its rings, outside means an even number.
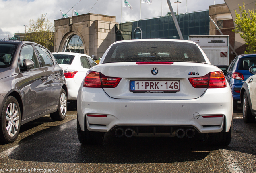
M207 146L200 138L123 137L107 133L102 145L81 145L76 109L64 121L45 116L21 126L14 143L0 145L0 172L59 173L254 173L256 123L233 113L228 147Z

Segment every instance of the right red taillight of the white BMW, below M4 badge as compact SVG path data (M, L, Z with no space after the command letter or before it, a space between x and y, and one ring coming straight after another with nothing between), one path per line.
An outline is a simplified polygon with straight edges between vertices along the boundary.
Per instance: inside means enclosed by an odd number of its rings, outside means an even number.
M188 78L194 88L223 88L227 87L223 72L210 72L202 77Z

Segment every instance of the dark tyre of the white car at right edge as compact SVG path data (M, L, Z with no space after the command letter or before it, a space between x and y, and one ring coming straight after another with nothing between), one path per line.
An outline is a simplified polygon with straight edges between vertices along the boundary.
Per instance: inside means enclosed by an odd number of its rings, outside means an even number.
M244 119L244 122L246 122L246 123L253 123L254 120L255 120L255 116L252 115L252 112L250 110L250 106L249 106L249 103L248 103L248 97L247 97L246 92L244 92L244 95L243 95L242 106L243 106L243 119Z

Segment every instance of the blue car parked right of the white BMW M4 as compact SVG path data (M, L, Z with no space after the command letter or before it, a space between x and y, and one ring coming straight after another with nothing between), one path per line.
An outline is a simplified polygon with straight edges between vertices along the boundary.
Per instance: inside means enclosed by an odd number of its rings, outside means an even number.
M252 76L249 68L254 65L256 65L256 54L242 54L236 56L227 69L225 77L233 95L233 110L237 109L237 101L240 101L240 89L244 81Z

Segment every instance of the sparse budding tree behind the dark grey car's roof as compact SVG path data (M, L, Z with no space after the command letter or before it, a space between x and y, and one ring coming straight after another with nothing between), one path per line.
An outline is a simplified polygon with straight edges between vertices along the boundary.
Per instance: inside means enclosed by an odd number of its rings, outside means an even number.
M29 20L24 40L36 42L50 50L54 45L54 25L45 17L46 14L41 14L37 21Z

